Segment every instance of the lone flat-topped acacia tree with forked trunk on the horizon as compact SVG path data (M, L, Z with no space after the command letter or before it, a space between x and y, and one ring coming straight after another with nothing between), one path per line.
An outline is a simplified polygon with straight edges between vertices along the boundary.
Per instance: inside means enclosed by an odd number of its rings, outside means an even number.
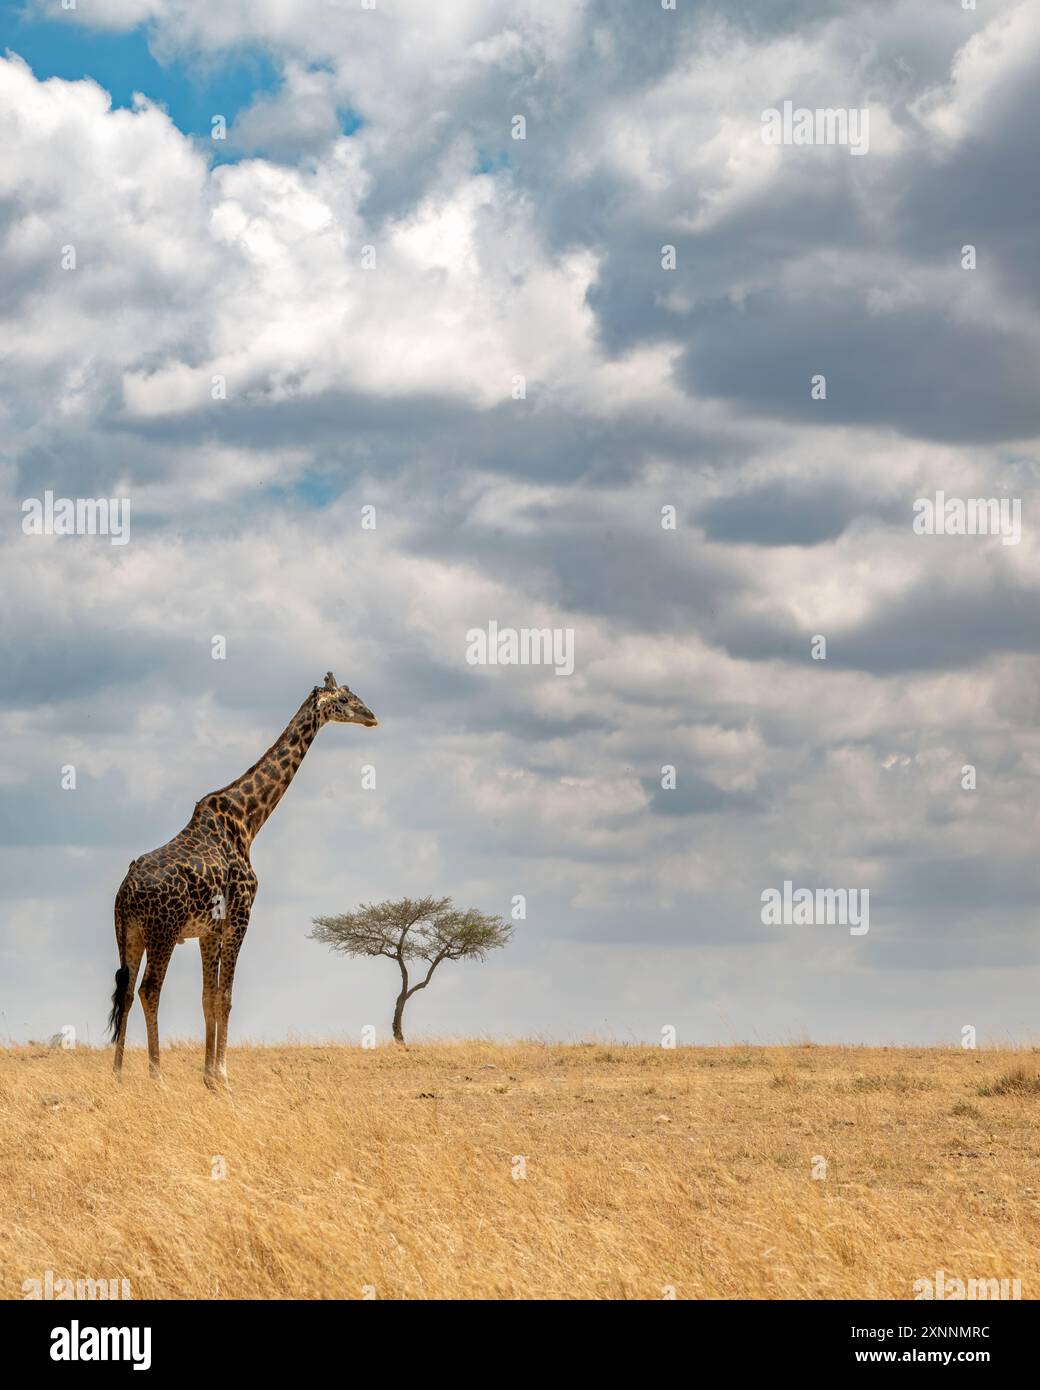
M513 931L502 917L476 908L464 912L450 898L398 898L363 902L355 912L335 917L314 917L307 935L332 951L349 956L385 955L400 969L400 994L393 1006L393 1040L403 1042L400 1020L405 1005L425 990L442 960L482 960L488 951L503 947ZM409 963L424 962L424 977L410 983Z

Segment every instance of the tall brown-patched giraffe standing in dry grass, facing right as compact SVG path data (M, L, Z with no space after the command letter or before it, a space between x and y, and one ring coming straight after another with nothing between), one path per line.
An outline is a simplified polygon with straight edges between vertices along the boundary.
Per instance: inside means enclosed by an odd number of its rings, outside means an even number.
M133 859L115 894L120 969L108 1027L115 1040L115 1074L122 1072L127 1017L142 956L140 1006L147 1026L149 1070L160 1079L159 994L174 947L197 937L202 951L202 1008L206 1017L203 1079L213 1091L228 1084L228 1015L242 938L256 898L249 847L285 795L323 724L378 723L368 706L330 671L286 728L247 771L203 796L184 830Z

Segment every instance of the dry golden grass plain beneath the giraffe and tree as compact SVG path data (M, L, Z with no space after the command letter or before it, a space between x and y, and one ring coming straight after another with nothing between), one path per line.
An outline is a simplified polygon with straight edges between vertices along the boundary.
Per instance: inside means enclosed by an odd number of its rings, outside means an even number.
M53 1269L138 1298L911 1298L941 1268L1029 1298L1023 1059L239 1047L227 1098L197 1044L161 1088L140 1051L120 1087L111 1049L0 1049L0 1294Z

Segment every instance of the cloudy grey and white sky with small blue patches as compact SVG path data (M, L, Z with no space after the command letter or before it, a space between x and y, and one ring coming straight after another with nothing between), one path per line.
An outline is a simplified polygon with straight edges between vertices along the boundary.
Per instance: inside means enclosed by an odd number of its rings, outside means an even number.
M39 0L0 51L0 1041L100 1042L127 866L330 669L380 726L253 847L232 1042L388 1037L307 931L425 894L526 915L413 1034L1040 1041L1040 8Z

